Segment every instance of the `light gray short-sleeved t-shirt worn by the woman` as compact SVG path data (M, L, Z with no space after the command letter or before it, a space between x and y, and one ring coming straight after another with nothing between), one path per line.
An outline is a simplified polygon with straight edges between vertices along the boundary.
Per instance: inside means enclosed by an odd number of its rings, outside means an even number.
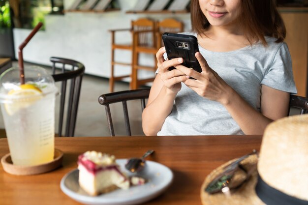
M195 35L186 32L184 34ZM236 51L199 50L209 66L234 88L255 110L260 112L261 85L297 93L292 62L285 43L267 37L262 43ZM171 114L157 135L243 135L240 126L218 102L199 96L182 83Z

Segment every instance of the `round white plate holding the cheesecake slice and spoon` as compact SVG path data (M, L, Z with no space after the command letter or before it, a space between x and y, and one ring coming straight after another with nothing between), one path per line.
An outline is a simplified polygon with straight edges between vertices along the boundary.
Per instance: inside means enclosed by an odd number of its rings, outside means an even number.
M124 169L126 161L126 159L116 160L122 172L126 173L127 176L133 176L134 174ZM173 173L168 167L157 162L147 161L145 169L137 174L137 176L147 179L147 183L144 185L132 186L127 190L117 189L106 194L92 197L80 188L78 176L79 171L77 169L66 174L61 180L60 187L67 196L87 205L140 204L157 197L165 191L173 179Z

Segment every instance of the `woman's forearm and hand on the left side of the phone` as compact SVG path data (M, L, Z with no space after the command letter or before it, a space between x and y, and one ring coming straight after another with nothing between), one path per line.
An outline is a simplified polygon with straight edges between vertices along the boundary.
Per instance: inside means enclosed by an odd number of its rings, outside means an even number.
M181 89L181 82L187 80L187 76L174 69L168 71L171 66L183 62L183 59L164 60L165 48L162 47L156 54L158 74L151 87L149 100L142 113L142 128L146 135L157 135L166 117L171 113L174 99Z

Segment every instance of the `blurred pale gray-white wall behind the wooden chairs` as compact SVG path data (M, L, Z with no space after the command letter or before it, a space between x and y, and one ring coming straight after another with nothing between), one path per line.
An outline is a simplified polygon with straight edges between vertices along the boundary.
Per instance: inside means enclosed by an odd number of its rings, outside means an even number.
M64 7L68 8L73 0L64 0ZM51 65L49 58L57 56L75 59L85 64L86 73L110 76L110 33L109 29L129 28L131 20L148 17L155 20L175 18L185 23L185 30L189 30L190 14L125 14L134 7L137 0L119 0L121 11L105 13L67 12L64 15L48 15L45 19L44 31L38 31L23 51L24 60ZM29 29L14 29L15 56L18 59L18 46L29 35ZM122 32L116 36L121 43L131 42L129 32ZM129 62L130 52L119 51L117 60ZM153 56L144 56L141 61L145 65L153 65ZM116 74L130 73L130 68L120 67ZM139 77L149 77L152 72L145 71Z

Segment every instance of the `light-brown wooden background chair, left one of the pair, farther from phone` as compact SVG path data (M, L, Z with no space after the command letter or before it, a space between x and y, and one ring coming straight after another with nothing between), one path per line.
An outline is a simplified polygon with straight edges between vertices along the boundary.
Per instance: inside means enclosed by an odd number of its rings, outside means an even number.
M122 81L124 78L127 77L131 77L131 74L128 75L122 75L122 76L115 76L115 65L122 65L122 66L130 66L130 68L132 69L132 65L133 65L133 58L131 60L131 62L129 63L124 63L124 62L118 62L115 61L115 51L116 50L126 50L126 51L131 51L132 56L133 56L133 43L131 44L117 44L115 42L115 35L116 32L120 32L120 31L130 31L133 33L135 31L147 31L148 33L142 33L140 35L140 43L142 45L147 45L149 42L149 32L150 35L154 36L154 29L155 29L155 21L150 20L150 19L146 19L146 18L142 18L142 19L138 19L136 21L131 21L131 28L130 29L114 29L114 30L110 30L111 32L111 73L110 73L110 79L109 79L109 89L110 92L114 91L114 83L115 81ZM152 33L152 34L151 34ZM133 40L131 40L133 42Z

